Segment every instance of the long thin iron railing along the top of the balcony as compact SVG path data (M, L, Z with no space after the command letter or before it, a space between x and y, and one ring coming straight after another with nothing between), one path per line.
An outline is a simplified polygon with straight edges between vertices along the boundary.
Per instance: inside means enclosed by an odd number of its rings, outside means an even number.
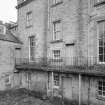
M46 66L92 66L98 64L97 57L62 57L62 58L16 58L16 65L46 65Z

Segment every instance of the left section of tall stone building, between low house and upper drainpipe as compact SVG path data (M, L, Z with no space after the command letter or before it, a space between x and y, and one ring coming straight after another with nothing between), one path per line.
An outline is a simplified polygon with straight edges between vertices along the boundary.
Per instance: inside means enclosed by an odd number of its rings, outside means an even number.
M18 0L16 8L19 38L23 42L16 59L20 87L46 93L47 72L41 66L47 62L47 0Z

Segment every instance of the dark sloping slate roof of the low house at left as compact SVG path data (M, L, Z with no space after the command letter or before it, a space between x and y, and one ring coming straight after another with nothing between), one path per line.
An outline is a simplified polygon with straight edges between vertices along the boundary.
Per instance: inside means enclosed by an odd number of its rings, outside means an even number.
M9 30L6 30L6 34L0 34L0 40L22 44L22 42L19 40L19 38L17 38Z

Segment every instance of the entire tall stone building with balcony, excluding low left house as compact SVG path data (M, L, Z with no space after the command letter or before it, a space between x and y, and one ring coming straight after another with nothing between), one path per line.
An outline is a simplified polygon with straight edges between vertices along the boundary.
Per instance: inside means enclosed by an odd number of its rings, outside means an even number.
M18 0L17 9L20 87L104 105L105 1Z

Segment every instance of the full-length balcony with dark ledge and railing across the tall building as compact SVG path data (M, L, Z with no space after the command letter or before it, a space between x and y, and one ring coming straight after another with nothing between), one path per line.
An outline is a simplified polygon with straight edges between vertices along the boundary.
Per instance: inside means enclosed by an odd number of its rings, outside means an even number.
M44 70L85 74L105 74L105 64L100 64L97 57L71 58L16 58L17 70Z

